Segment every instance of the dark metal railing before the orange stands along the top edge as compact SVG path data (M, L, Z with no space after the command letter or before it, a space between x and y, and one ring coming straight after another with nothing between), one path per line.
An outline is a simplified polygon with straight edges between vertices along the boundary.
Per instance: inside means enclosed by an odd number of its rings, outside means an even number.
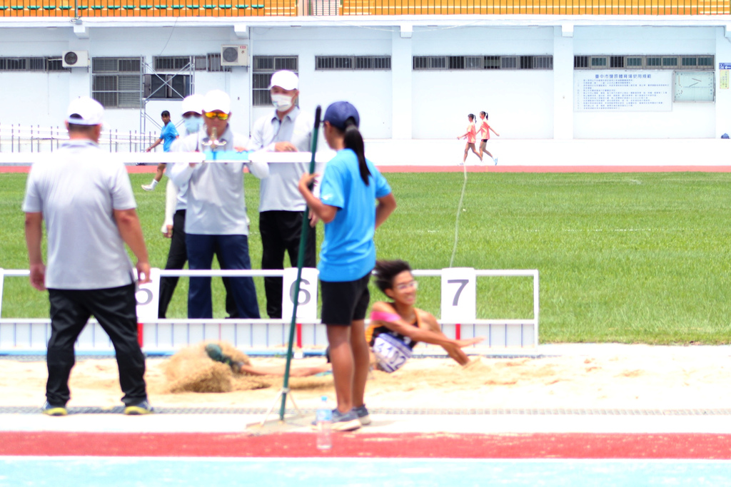
M0 17L729 15L731 0L307 0L301 10L298 0L0 0Z

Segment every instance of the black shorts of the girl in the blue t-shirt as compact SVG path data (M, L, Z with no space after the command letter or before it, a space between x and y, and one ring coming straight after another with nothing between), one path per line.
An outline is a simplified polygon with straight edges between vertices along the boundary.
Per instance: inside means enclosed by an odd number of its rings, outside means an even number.
M371 294L368 291L368 272L360 279L334 283L320 280L322 295L322 324L350 326L355 320L366 318Z

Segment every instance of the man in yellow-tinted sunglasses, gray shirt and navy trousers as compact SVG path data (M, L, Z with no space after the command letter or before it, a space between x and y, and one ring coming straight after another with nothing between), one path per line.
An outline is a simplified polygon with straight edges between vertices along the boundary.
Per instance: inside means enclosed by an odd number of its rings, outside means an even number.
M231 99L213 90L203 99L205 131L178 142L175 149L194 152L237 150L246 138L235 134L229 125ZM211 269L217 253L221 269L251 269L249 260L249 218L243 193L243 162L176 163L170 179L178 187L188 184L188 209L185 231L189 269ZM269 175L266 163L246 164L252 175ZM229 281L239 318L260 318L257 291L251 277L232 277ZM188 318L213 318L211 277L191 277Z

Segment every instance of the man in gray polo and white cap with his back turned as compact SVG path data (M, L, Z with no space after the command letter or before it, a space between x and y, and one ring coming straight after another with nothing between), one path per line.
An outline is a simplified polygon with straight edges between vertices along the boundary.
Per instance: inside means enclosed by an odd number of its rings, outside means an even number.
M91 315L112 340L119 367L124 413L152 413L145 387L145 357L137 342L135 275L124 244L137 257L140 283L150 264L135 196L124 165L105 160L97 143L104 109L81 97L69 104L69 141L31 168L23 211L31 285L48 288L46 415L67 414L74 343ZM48 267L41 250L48 233Z

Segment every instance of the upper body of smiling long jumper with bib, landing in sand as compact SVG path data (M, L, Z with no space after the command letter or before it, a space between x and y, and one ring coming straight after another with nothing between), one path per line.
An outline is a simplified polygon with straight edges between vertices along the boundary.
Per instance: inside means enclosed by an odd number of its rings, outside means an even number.
M436 318L414 307L417 283L411 267L404 261L377 261L374 269L376 285L393 301L375 302L371 307L371 323L366 329L366 341L371 346L371 361L384 372L400 369L412 355L418 342L441 345L460 365L469 364L462 347L485 340L448 338Z

